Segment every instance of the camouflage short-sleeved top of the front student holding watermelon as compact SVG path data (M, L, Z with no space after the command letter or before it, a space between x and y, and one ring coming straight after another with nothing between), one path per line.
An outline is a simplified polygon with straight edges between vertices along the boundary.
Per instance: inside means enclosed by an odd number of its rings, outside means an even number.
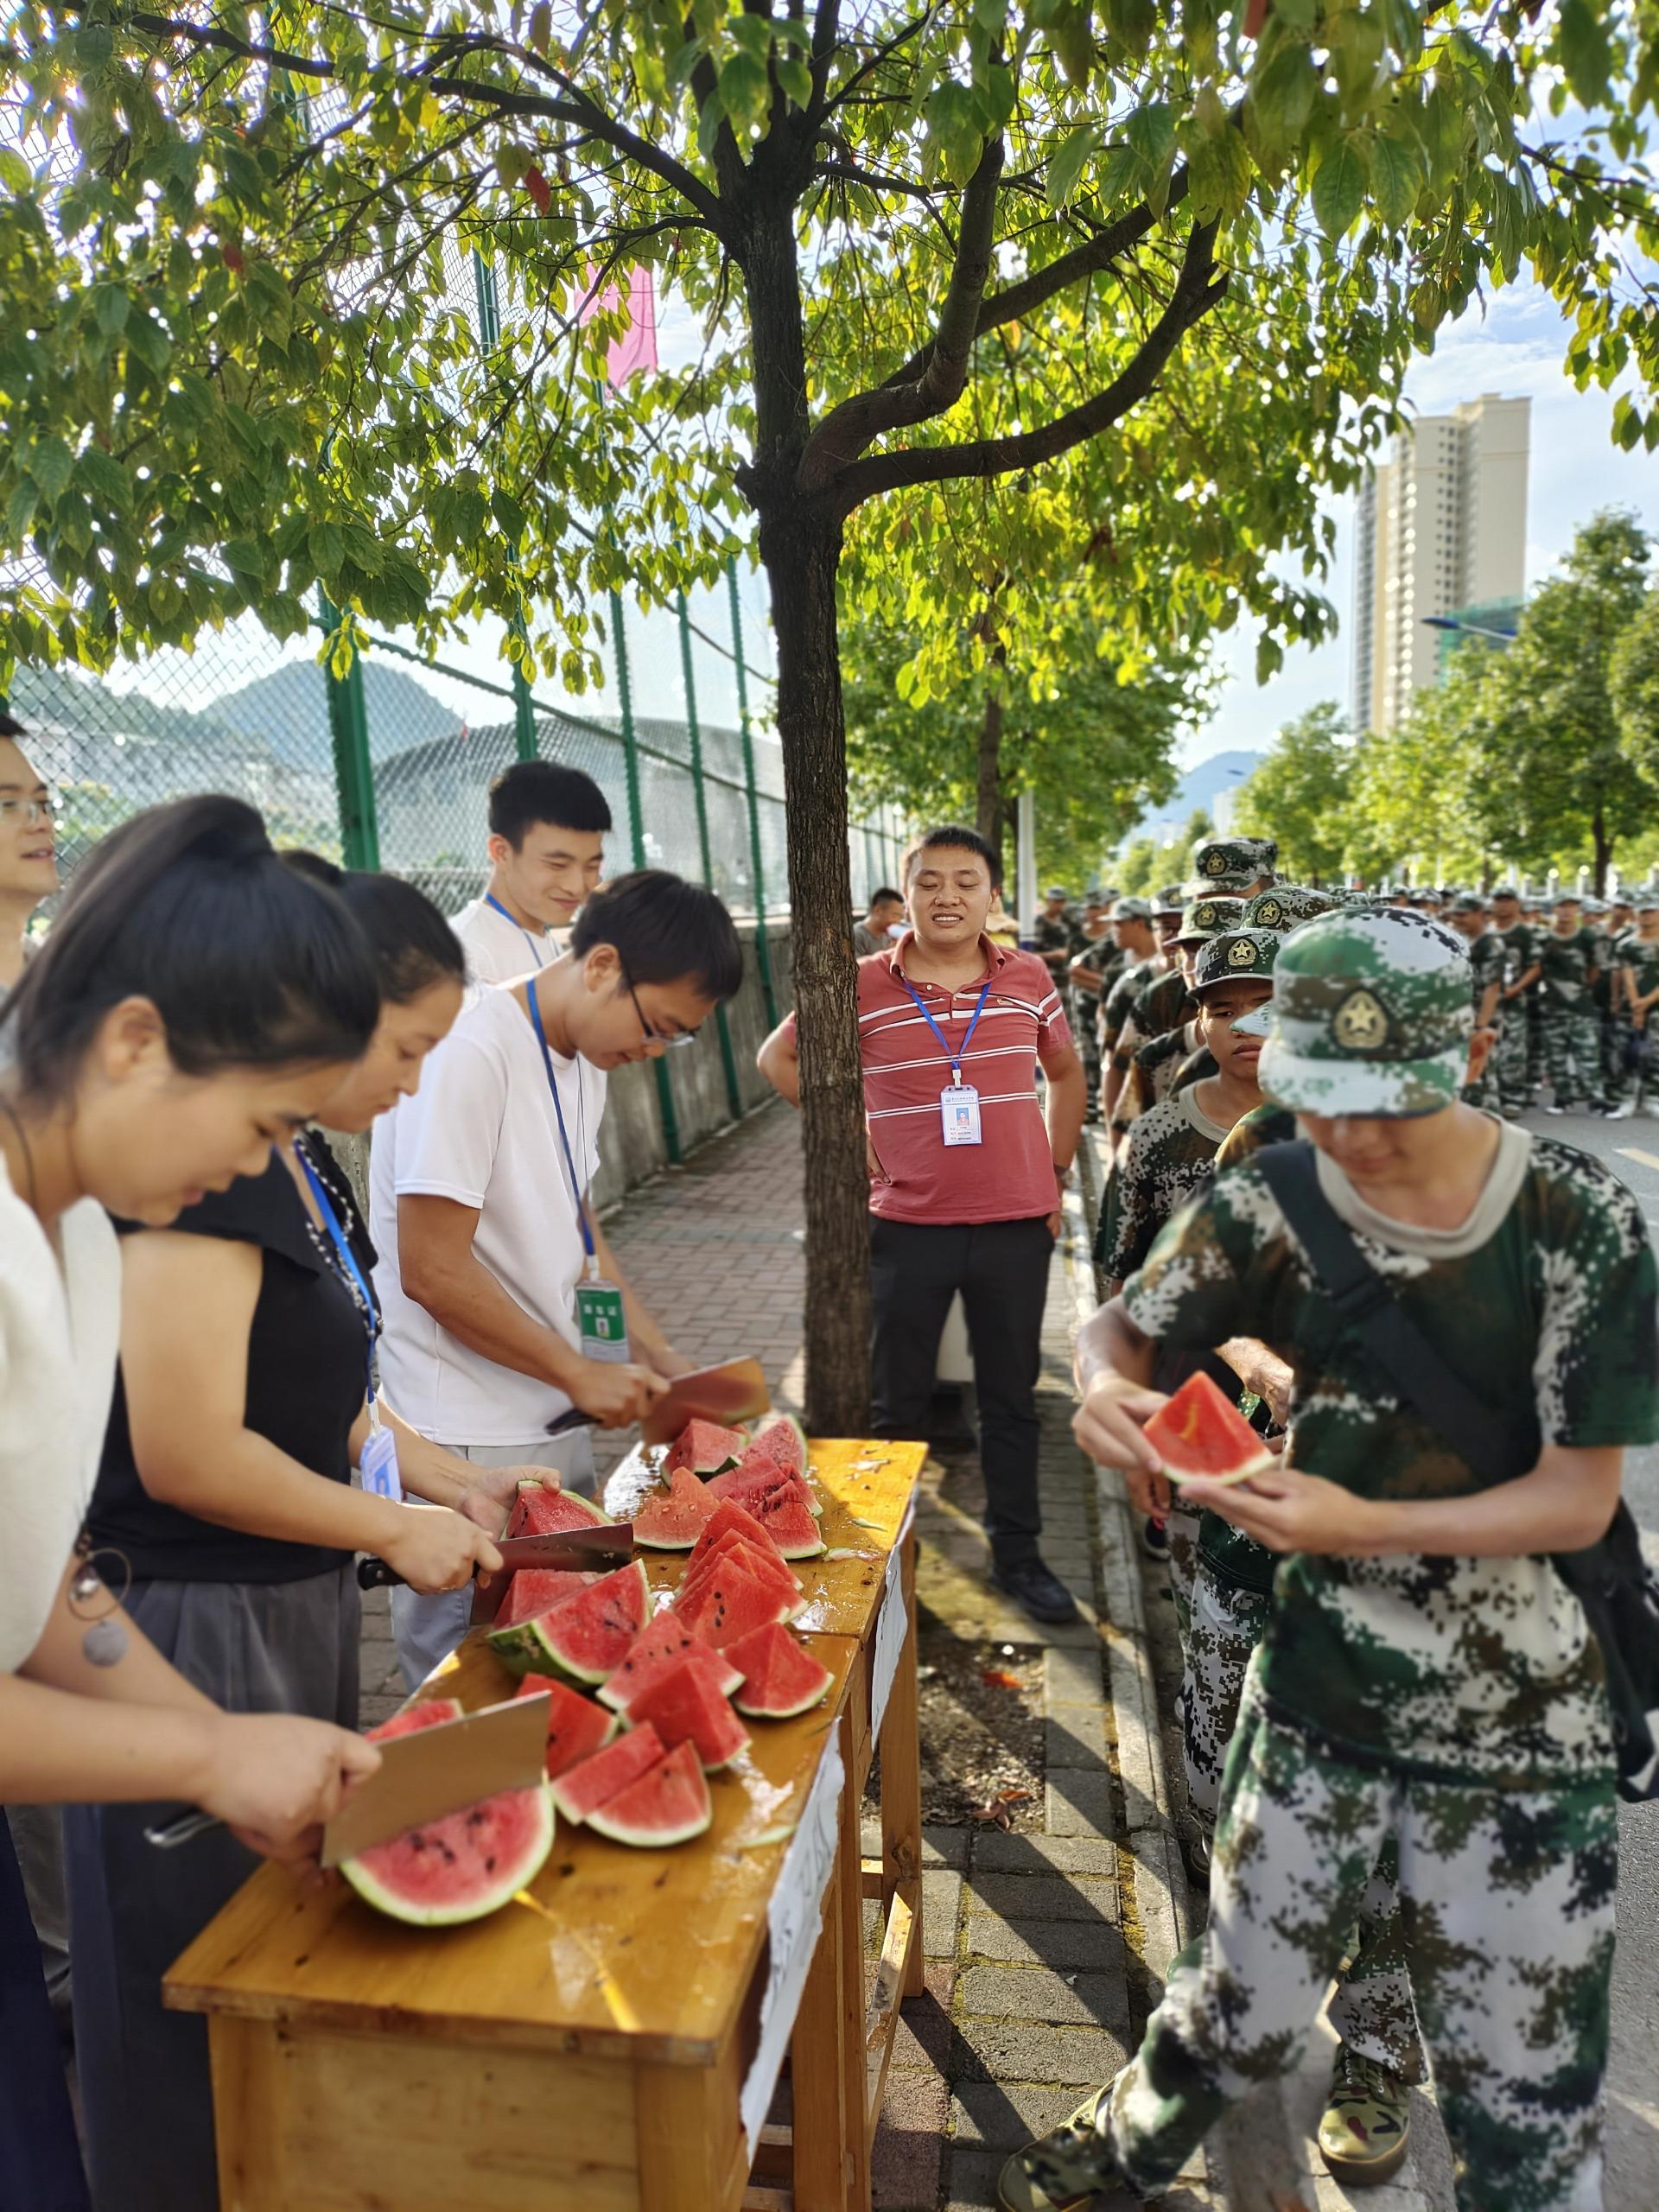
M1383 1221L1321 1164L1365 1259L1486 1402L1537 1409L1546 1442L1659 1438L1655 1261L1635 1197L1597 1159L1504 1130L1458 1239ZM1449 1248L1451 1245L1451 1248ZM1460 1498L1482 1480L1371 1365L1252 1161L1186 1206L1124 1290L1175 1345L1259 1336L1294 1371L1287 1464L1360 1498ZM1292 1553L1261 1650L1270 1708L1360 1759L1528 1790L1601 1781L1601 1652L1546 1557Z

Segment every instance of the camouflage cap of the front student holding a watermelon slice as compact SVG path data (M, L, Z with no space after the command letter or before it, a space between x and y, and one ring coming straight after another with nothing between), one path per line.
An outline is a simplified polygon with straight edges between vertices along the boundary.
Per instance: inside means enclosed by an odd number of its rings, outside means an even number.
M1327 914L1274 964L1261 1088L1294 1113L1405 1117L1451 1106L1469 1066L1467 940L1422 914Z

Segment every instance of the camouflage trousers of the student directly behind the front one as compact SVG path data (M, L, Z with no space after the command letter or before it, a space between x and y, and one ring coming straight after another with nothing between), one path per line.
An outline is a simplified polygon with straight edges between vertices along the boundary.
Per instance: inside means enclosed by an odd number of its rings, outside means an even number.
M1272 1613L1267 1590L1239 1590L1199 1559L1192 1584L1192 1624L1181 1672L1181 1747L1192 1816L1214 1843L1221 1774L1239 1725L1250 1655ZM1378 2066L1422 2079L1418 2015L1400 1940L1400 1887L1394 1843L1385 1843L1360 1898L1347 1962L1327 2006L1327 2020L1352 2051Z

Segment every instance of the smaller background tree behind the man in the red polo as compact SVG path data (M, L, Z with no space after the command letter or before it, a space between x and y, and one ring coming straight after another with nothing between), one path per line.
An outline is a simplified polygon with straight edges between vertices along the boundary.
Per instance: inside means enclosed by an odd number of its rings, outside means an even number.
M843 624L847 774L865 805L914 818L973 821L1004 852L1020 792L1035 796L1037 869L1082 883L1175 790L1170 754L1210 701L1208 664L1170 655L1133 684L1077 635L1066 670L1020 684L1006 655L962 657L947 690L916 633L874 617Z

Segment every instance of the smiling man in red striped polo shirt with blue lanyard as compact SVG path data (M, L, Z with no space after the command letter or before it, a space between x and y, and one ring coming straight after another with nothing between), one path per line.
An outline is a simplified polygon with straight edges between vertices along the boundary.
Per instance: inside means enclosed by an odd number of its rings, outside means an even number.
M960 1292L991 1579L1033 1619L1066 1621L1071 1593L1037 1551L1037 1365L1086 1086L1053 975L984 933L1000 889L1002 860L982 836L929 830L905 858L909 931L858 962L872 1418L878 1436L927 1433L940 1334ZM759 1060L799 1104L794 1015Z

